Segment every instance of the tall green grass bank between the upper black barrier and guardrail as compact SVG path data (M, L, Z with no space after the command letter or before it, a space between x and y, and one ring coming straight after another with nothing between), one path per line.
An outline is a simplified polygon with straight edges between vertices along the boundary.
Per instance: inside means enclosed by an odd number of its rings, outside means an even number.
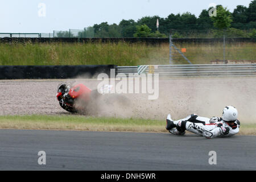
M183 43L184 53L193 64L210 64L223 59L222 43ZM169 45L143 43L13 43L0 44L0 65L148 65L169 64ZM187 61L173 50L175 64ZM255 43L226 44L226 59L254 60Z

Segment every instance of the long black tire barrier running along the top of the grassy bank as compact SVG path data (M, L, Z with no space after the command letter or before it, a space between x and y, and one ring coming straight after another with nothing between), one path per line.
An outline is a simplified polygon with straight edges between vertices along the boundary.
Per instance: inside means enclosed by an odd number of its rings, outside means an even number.
M255 42L255 38L226 38L226 42ZM0 43L169 43L169 38L0 38ZM174 43L214 43L223 42L223 38L174 38Z

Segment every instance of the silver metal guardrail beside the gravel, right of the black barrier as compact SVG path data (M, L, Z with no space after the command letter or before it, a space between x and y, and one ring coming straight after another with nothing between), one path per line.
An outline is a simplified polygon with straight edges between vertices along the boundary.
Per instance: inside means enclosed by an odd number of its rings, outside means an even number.
M138 74L139 67L117 67L117 74ZM143 73L166 77L243 77L256 76L256 64L147 65Z

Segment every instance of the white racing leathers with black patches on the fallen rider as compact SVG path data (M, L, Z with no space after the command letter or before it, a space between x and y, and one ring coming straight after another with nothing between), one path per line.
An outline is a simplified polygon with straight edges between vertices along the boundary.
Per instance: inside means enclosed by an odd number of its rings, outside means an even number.
M170 131L172 134L184 134L185 130L191 131L197 135L204 137L204 131L210 131L213 137L230 137L236 135L239 132L240 121L236 120L233 125L229 124L219 118L217 122L210 122L209 118L200 117L196 114L189 115L187 118L174 121L176 125L176 131Z

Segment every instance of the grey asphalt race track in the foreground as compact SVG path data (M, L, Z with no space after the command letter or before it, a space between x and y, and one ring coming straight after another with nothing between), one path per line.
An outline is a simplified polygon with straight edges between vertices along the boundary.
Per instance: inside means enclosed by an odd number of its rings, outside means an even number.
M255 170L256 136L0 130L0 170ZM46 165L38 152L46 152ZM217 164L209 164L216 151Z

